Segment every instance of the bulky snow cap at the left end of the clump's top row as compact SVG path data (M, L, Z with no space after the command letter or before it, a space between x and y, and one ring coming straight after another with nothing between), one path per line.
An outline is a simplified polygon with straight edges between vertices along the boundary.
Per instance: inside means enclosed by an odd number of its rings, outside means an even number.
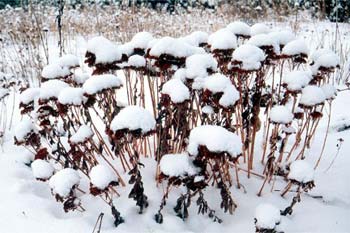
M110 64L120 61L122 58L118 46L103 36L94 37L89 40L87 52L95 54L96 64Z

